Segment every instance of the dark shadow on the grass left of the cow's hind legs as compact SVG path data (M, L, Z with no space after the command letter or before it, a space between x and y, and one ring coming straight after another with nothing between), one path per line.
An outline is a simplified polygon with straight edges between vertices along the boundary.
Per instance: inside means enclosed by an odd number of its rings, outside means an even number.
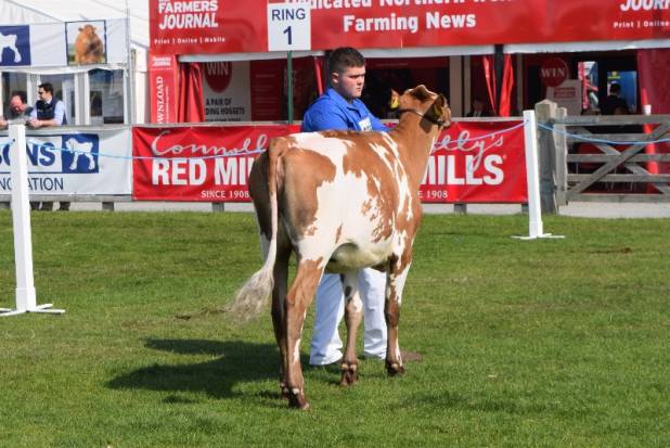
M215 398L241 396L239 383L276 379L279 350L273 344L242 341L147 340L151 349L180 355L211 355L215 359L196 363L154 364L119 375L107 383L111 388L206 393ZM268 394L269 398L270 394ZM278 394L279 397L279 386ZM169 397L168 397L169 398ZM189 401L189 400L186 400ZM173 398L169 402L184 402Z

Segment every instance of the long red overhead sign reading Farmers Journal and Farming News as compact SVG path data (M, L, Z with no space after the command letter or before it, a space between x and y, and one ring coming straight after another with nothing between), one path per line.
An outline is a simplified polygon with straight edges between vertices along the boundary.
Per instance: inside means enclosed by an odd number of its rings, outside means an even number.
M312 50L670 38L669 0L286 2L309 5ZM160 54L266 52L268 4L286 2L150 0L150 46Z

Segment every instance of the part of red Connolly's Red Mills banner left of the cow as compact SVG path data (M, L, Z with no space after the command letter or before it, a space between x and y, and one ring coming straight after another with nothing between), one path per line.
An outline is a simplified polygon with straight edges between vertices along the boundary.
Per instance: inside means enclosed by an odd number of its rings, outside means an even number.
M258 149L299 126L208 126L132 129L133 197L147 201L248 202ZM158 158L154 158L158 157Z

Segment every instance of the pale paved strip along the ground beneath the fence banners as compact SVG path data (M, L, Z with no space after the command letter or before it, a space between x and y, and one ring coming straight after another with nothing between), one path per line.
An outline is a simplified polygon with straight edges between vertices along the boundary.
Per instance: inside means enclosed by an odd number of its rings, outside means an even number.
M250 213L250 204L226 204L226 212ZM73 203L73 210L101 210L101 203ZM119 202L114 206L116 212L211 212L211 203L198 202ZM426 204L428 214L454 213L453 205ZM518 204L468 204L468 214L510 215L521 212ZM561 215L588 218L670 218L670 203L593 203L574 202L561 208Z

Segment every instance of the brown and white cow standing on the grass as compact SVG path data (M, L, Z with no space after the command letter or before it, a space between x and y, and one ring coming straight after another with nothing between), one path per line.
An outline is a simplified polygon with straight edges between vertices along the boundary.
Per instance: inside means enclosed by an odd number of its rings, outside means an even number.
M347 347L342 384L358 379L356 333L362 319L357 272L387 273L386 369L402 374L398 319L422 217L418 185L435 140L451 112L444 97L424 86L399 99L399 124L389 132L322 131L271 141L249 177L266 263L237 293L232 309L257 311L272 295L281 351L280 386L291 406L308 408L300 368L300 335L319 280L342 274ZM288 259L297 271L287 291Z

